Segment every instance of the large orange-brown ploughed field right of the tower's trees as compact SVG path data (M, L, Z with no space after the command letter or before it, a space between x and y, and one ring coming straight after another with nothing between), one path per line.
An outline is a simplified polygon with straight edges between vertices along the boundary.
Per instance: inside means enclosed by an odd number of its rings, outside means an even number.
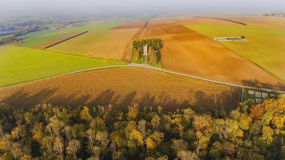
M278 86L285 89L282 81L187 27L146 27L143 38L152 37L163 40L160 61L165 69L221 82L247 86L255 86L259 82L264 88Z

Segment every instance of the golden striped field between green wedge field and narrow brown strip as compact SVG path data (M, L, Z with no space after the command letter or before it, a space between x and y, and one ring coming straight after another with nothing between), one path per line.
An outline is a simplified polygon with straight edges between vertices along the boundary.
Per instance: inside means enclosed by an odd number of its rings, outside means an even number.
M84 53L84 56L102 57L111 60L122 59L127 44L138 30L139 28L118 30L108 38L91 47Z

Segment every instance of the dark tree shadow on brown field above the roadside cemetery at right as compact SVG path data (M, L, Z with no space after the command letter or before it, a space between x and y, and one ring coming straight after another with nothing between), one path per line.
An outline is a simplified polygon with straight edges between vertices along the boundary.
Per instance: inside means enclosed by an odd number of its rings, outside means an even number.
M258 83L262 84L262 88L268 88L268 89L273 89L273 87L278 87L280 90L284 91L285 90L285 84L282 84L280 82L277 82L277 84L273 85L270 83L261 83L259 82L257 79L243 79L241 81L241 84L244 86L251 86L254 87L255 85L257 85Z

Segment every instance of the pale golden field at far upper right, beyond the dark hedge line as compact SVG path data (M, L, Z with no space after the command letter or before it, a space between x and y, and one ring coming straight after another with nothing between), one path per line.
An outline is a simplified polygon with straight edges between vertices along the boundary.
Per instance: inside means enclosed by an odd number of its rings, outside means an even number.
M278 27L278 28L284 28L285 26L284 17L273 17L273 16L209 16L209 17L234 20L245 23L249 26Z

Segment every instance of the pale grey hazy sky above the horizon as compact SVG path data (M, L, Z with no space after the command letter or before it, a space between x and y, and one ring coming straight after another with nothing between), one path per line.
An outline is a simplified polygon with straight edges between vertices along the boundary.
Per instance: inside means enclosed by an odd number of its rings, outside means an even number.
M262 9L284 10L284 0L0 0L0 11L50 9Z

